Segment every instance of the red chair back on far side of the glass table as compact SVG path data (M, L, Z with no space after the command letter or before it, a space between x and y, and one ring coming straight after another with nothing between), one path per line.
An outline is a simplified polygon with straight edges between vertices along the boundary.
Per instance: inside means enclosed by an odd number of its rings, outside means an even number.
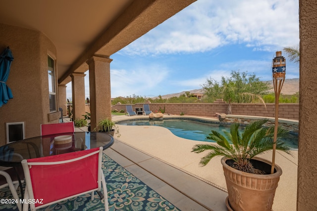
M56 124L42 124L41 135L51 135L56 133L74 132L74 122L56 123Z

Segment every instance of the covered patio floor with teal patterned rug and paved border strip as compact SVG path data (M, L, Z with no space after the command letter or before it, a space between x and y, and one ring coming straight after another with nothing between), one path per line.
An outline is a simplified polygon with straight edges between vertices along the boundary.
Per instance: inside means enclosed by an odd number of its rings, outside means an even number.
M69 121L65 118L64 121ZM85 131L87 127L75 128ZM122 131L123 132L123 131ZM135 149L119 139L104 151L104 174L107 182L109 210L226 211L227 193L211 182ZM19 191L19 189L18 189ZM2 199L12 199L8 188L0 190ZM97 194L90 201L84 195L42 210L102 209ZM0 205L0 210L17 210L13 205Z

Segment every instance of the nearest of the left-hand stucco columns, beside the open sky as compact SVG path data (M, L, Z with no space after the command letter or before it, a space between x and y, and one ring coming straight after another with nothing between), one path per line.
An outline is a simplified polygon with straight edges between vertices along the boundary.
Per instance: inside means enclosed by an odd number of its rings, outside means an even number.
M111 119L111 90L109 57L93 56L89 65L91 128L103 119Z

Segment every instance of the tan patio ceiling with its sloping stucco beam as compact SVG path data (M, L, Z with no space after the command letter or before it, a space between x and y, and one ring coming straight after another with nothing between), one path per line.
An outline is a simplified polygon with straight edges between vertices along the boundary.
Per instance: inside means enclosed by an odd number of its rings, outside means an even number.
M57 50L58 83L85 72L196 0L6 0L0 22L44 33Z

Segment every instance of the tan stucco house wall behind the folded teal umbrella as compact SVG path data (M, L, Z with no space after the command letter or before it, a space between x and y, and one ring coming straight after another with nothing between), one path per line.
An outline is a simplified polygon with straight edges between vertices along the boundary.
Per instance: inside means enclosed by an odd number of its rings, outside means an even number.
M0 24L0 51L7 46L14 57L7 81L13 99L0 107L0 145L5 144L7 122L25 122L26 138L40 135L40 125L49 122L48 55L57 59L44 34Z

